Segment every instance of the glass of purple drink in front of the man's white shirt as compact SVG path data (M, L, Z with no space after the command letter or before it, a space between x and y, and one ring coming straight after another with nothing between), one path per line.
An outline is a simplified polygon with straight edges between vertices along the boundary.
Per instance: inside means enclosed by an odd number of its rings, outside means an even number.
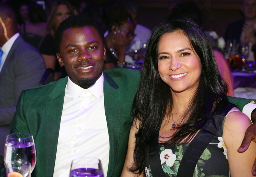
M104 177L100 159L85 157L74 159L71 164L69 177Z

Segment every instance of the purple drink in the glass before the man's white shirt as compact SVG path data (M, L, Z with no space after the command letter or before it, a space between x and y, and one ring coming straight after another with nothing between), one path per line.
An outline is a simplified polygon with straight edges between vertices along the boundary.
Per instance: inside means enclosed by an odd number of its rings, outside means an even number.
M69 177L104 177L103 172L95 168L77 168L70 171Z

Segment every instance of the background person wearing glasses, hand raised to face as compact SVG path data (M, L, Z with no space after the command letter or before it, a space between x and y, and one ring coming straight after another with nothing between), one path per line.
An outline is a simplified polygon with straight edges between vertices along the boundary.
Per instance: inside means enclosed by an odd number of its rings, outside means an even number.
M108 11L108 35L106 37L107 59L104 69L125 67L125 51L134 34L135 25L131 15L122 5L114 5Z

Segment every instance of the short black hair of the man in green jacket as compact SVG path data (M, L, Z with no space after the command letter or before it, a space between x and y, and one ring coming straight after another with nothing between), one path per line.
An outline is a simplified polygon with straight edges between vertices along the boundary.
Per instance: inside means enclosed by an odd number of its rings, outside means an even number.
M94 27L98 31L103 45L105 45L105 38L102 31L102 26L93 18L89 18L84 15L75 15L68 17L67 19L62 21L55 32L55 45L57 52L60 52L60 43L62 42L62 36L64 31L69 28L83 28L85 26Z

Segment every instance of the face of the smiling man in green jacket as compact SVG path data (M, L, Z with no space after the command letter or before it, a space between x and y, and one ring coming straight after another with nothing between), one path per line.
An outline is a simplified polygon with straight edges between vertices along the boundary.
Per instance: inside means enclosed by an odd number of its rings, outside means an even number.
M71 81L89 88L102 74L106 49L94 27L69 28L63 32L57 58Z

